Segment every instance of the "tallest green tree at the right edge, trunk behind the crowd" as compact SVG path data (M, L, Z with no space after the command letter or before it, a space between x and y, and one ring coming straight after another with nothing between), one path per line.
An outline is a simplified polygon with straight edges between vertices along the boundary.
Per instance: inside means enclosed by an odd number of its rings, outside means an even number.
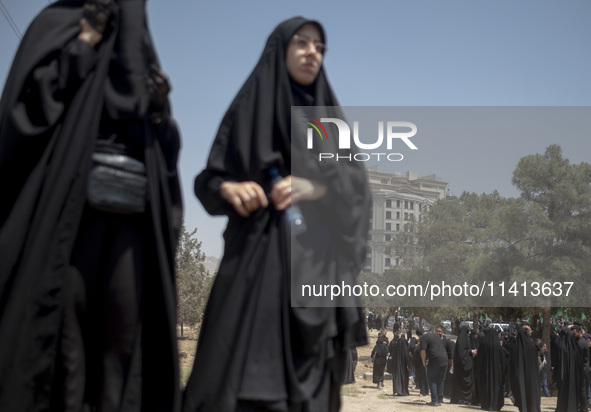
M530 270L538 278L569 281L579 285L562 304L588 302L589 290L583 287L591 275L591 165L571 164L562 157L558 145L544 154L523 157L513 172L513 184L528 204L540 207L549 232L536 246L536 258ZM562 305L559 305L562 306ZM544 309L544 336L550 336L550 309Z

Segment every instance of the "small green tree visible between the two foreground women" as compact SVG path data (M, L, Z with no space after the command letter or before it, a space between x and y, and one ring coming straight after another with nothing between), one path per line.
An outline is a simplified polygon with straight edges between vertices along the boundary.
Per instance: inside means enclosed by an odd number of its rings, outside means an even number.
M211 290L211 278L203 264L205 254L201 252L196 233L197 229L189 233L182 225L176 254L177 321L181 337L185 324L195 325L202 320Z

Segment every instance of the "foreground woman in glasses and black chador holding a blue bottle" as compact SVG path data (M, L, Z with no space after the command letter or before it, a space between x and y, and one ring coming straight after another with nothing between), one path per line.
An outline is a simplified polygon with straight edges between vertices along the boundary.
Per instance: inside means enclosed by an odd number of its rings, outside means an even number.
M292 106L333 106L310 117L343 118L322 66L325 43L315 21L296 17L275 28L195 180L206 210L229 219L187 412L337 410L346 354L366 344L358 308L311 307L320 301L298 297L303 275L303 283L352 284L366 253L365 171L318 162L304 148L302 115L291 116ZM292 136L292 126L303 133ZM323 152L339 150L336 138L321 143ZM286 222L292 202L307 227L299 234Z

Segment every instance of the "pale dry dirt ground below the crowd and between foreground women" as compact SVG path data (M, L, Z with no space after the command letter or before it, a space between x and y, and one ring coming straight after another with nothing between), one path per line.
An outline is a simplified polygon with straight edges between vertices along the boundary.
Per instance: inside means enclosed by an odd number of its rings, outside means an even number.
M195 359L195 348L197 345L197 331L185 328L185 339L178 341L179 343L179 357L181 366L181 383L186 383L193 361ZM179 332L180 336L180 332ZM433 411L437 412L474 412L481 411L477 406L451 405L449 399L445 399L443 405L437 408L428 406L427 403L431 401L430 396L419 396L419 391L414 389L414 386L409 385L410 396L393 396L392 395L392 381L386 380L383 388L377 388L371 382L371 350L373 349L376 339L377 331L368 332L369 345L357 348L359 354L359 361L357 362L357 369L355 372L355 383L344 385L341 390L341 412L422 412ZM388 334L388 338L392 339L392 332ZM369 372L369 379L363 379L365 372ZM542 398L542 412L553 412L556 408L556 398ZM518 412L518 409L513 406L508 398L505 398L505 406L502 409L508 412Z

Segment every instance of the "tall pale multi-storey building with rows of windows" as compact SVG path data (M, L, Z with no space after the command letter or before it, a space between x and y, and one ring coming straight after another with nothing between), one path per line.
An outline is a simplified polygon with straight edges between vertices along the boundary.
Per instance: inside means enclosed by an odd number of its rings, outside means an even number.
M420 219L421 213L446 197L447 182L435 175L419 177L416 172L382 173L377 167L367 170L369 186L373 197L369 247L365 273L379 273L400 263L399 259L384 254L384 249L394 236L404 230L413 218Z

